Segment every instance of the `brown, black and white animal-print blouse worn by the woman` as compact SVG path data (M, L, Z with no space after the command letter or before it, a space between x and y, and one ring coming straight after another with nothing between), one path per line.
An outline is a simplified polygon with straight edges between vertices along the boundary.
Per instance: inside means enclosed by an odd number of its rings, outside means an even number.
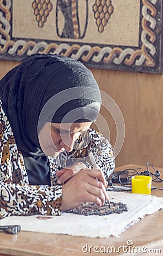
M115 167L111 144L97 131L90 129L89 132L91 142L86 148L74 151L73 158L82 158L87 151L93 151L98 166L107 179ZM62 185L57 184L58 167L53 158L49 157L48 162L51 186L30 185L22 152L16 146L0 100L0 218L12 215L61 214Z

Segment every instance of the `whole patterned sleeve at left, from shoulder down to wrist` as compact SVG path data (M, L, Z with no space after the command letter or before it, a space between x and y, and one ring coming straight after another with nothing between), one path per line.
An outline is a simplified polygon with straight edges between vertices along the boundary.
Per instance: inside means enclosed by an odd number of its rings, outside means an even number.
M0 218L60 215L62 185L29 185L9 121L0 106ZM11 144L10 144L11 143ZM14 182L18 180L19 183Z

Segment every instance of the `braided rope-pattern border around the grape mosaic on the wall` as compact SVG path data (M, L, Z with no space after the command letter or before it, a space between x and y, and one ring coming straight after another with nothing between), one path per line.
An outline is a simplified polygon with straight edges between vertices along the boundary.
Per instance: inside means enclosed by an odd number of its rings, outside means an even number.
M12 0L0 0L0 59L22 60L33 53L58 53L88 67L140 72L162 72L162 1L140 0L139 47L61 43L11 37Z

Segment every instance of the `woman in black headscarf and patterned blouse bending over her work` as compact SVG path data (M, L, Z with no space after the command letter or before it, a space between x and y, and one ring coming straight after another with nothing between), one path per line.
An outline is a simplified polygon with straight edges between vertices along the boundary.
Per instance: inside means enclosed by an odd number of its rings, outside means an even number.
M114 170L107 139L90 125L101 105L92 73L59 55L26 57L0 81L0 217L102 205ZM88 152L99 168L90 171Z

